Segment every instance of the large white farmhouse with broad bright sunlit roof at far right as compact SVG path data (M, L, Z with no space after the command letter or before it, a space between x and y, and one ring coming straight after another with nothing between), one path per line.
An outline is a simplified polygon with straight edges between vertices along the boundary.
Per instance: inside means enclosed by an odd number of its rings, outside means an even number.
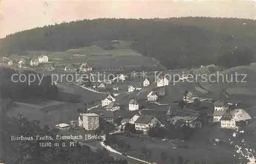
M247 125L251 119L250 115L243 109L227 110L220 119L221 128L234 129L237 126Z

